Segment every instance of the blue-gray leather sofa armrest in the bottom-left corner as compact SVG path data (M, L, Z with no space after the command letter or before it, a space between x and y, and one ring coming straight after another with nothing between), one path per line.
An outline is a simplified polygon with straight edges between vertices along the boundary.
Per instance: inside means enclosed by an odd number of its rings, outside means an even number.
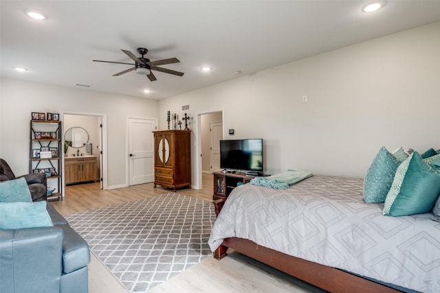
M0 230L0 292L59 292L63 229Z

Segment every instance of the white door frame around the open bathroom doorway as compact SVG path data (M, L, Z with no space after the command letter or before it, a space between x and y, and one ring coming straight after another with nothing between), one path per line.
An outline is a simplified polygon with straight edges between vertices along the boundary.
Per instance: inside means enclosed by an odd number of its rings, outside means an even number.
M64 115L81 115L81 116L96 116L101 119L102 127L100 129L100 139L101 139L101 145L100 145L100 187L101 189L109 189L108 187L108 166L107 166L107 114L105 113L89 113L89 112L72 112L72 111L65 111L63 113L60 113L61 115L61 121L64 122ZM64 132L65 129L63 129L63 137L61 139L61 145L64 145ZM61 163L64 166L64 152L60 150L61 153ZM63 183L63 186L65 185L65 175L63 172L63 176L61 178L61 182ZM63 193L65 192L65 188L63 188ZM65 195L63 194L63 197Z

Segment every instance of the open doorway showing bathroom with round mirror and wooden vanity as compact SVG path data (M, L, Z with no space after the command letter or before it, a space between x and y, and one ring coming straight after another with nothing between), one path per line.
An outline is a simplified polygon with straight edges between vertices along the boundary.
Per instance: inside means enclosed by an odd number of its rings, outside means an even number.
M103 189L102 145L104 115L64 113L63 182L65 186L85 185ZM69 196L69 189L65 195Z

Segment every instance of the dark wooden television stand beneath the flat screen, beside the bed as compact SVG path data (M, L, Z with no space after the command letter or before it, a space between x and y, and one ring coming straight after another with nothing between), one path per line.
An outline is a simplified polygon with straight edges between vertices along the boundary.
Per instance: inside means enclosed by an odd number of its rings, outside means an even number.
M240 185L249 183L254 175L249 175L249 172L234 172L229 173L228 170L223 170L221 172L214 172L214 194L212 195L213 200L219 200L221 198L228 198L231 191ZM259 176L268 176L259 174Z

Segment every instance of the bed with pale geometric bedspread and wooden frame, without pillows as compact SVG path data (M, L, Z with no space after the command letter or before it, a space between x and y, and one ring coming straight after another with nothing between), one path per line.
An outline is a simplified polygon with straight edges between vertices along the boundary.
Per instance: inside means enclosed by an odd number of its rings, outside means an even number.
M440 292L440 223L366 204L363 180L311 176L288 189L236 187L208 241L330 292Z

